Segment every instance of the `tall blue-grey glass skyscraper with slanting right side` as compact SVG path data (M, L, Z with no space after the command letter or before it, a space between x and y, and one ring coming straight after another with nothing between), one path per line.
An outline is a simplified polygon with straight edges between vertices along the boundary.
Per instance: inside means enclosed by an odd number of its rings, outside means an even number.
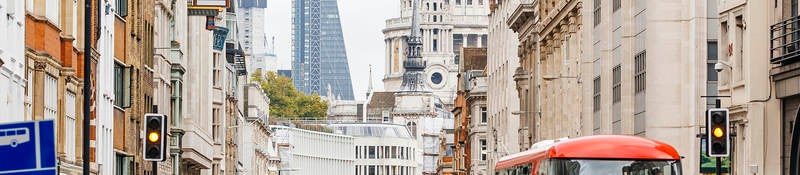
M336 0L292 1L292 79L306 94L353 100ZM328 94L326 88L331 86Z

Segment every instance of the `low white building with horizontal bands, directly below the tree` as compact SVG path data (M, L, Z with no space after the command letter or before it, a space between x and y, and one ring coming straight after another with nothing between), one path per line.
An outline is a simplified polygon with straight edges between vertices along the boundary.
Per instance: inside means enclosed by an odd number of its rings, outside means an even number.
M355 174L355 138L270 125L281 156L280 174Z

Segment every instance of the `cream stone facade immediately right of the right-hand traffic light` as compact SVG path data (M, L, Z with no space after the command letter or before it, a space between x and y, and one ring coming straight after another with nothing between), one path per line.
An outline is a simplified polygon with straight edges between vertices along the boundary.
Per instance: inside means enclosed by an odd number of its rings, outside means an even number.
M716 1L718 88L730 110L733 172L793 174L800 107L797 1ZM797 172L795 171L794 174Z

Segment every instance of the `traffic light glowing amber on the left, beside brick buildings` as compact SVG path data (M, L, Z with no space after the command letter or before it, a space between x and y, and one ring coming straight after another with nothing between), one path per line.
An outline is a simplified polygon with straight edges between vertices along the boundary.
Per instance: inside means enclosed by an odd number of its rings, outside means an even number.
M164 146L164 130L166 130L166 118L161 114L145 114L145 139L144 139L144 160L160 162L164 161L166 149Z

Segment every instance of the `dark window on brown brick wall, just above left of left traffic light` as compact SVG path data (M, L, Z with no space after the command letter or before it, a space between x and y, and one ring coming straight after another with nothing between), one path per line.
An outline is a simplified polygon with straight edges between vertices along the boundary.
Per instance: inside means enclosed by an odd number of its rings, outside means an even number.
M114 64L114 105L131 106L131 68L119 63Z

